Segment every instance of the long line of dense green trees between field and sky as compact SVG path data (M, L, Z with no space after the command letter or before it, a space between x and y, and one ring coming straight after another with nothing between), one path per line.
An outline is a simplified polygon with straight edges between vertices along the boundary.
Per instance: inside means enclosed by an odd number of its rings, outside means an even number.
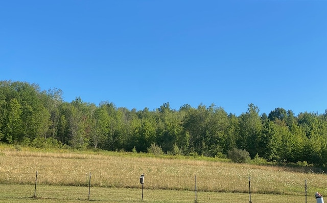
M0 81L0 140L42 147L99 148L147 152L151 145L170 154L226 157L240 149L268 161L327 164L327 111L324 114L275 108L259 114L249 104L239 116L215 104L178 110L169 103L155 110L116 107L112 102L72 102L57 88Z

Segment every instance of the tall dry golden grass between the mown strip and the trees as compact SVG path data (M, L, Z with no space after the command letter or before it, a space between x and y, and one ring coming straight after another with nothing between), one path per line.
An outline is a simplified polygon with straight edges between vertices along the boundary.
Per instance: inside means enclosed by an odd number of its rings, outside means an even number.
M302 173L291 168L254 166L199 160L161 159L118 153L38 152L2 148L0 183L39 185L139 188L139 176L145 174L145 189L248 192L257 194L327 194L325 174Z

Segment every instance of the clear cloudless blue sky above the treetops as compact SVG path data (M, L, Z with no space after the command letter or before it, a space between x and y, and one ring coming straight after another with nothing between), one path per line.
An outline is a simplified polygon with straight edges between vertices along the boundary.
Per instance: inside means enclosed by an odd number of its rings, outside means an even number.
M1 1L0 80L64 100L327 109L327 1Z

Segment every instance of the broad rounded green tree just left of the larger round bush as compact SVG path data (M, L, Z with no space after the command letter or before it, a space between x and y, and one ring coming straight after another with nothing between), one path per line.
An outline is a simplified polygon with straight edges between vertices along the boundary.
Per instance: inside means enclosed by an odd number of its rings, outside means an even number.
M216 156L235 146L235 137L231 133L236 128L222 107L199 105L197 109L189 108L186 112L183 127L186 136L190 137L190 152Z

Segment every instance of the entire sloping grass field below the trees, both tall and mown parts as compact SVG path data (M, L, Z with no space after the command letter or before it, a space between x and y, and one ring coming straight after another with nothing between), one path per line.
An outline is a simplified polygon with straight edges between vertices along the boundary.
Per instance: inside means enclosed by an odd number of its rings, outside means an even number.
M34 195L36 171L37 198ZM304 172L306 171L306 172ZM307 168L256 166L119 152L44 152L0 146L1 202L316 202L327 194L324 173Z

